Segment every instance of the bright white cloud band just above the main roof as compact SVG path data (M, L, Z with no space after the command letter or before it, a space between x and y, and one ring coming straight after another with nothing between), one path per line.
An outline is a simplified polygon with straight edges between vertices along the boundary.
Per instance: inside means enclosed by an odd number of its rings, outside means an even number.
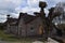
M25 8L17 8L16 11L23 12L23 13L28 13L28 14L32 14L34 12L39 12L40 9L39 8L30 8L30 6L25 6Z

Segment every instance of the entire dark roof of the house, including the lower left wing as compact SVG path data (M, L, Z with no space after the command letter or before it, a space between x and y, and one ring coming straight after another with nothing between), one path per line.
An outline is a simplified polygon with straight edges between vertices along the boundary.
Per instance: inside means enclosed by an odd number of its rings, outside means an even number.
M29 15L27 13L20 13L18 18L10 17L4 24L9 23L10 25L18 25L21 18L24 19L25 24L28 24L28 23L32 22L35 18L37 18L37 16Z

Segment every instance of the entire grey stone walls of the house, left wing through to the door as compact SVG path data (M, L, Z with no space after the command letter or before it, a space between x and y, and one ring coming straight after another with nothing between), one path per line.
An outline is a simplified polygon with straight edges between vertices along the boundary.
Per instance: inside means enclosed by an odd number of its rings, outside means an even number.
M18 26L9 26L10 33L18 34L20 37L39 35L39 28L42 25L41 18L37 17L32 22L25 24L23 17L18 20Z

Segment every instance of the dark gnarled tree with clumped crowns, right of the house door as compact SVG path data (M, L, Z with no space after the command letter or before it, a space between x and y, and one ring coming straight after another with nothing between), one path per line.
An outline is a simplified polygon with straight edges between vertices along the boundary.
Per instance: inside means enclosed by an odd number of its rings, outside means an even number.
M48 38L50 37L51 30L56 28L55 25L52 23L53 18L55 18L56 16L60 16L62 14L61 10L62 8L51 8L49 10L49 14L48 17L46 17L46 13L44 13L44 8L47 6L46 2L40 1L39 2L39 8L40 13L35 12L35 14L38 14L38 16L41 17L42 19L42 24L43 24L43 29L44 29L44 40L48 40Z

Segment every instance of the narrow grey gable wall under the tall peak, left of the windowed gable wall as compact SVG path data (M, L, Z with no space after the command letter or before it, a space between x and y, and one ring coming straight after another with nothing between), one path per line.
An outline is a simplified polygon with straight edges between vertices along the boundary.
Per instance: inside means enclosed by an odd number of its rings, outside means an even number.
M18 22L18 35L26 37L26 25L23 20L23 17Z

